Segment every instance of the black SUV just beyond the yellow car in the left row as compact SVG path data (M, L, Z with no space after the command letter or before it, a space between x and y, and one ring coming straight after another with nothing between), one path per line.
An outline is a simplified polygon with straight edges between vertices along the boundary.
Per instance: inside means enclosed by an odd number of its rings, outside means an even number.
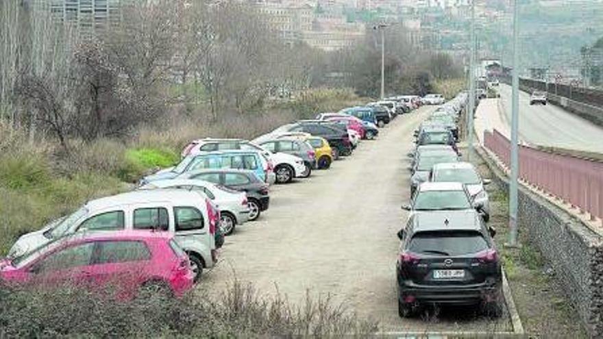
M292 123L281 127L282 131L302 131L325 138L333 149L333 159L352 154L352 142L347 131L321 123Z

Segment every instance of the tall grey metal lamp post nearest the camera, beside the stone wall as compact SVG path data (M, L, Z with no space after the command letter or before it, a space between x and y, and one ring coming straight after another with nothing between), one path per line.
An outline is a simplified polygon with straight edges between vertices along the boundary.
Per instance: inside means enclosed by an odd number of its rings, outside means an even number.
M511 177L509 180L509 241L508 246L517 246L517 177L519 154L517 129L519 128L519 1L513 1L513 91L511 92Z

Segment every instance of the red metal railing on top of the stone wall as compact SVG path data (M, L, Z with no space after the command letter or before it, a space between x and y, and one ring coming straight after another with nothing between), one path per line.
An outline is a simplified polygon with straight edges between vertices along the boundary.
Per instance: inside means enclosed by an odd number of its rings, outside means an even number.
M484 131L484 145L508 167L510 142L499 131ZM519 177L558 197L591 220L603 218L603 162L519 146Z

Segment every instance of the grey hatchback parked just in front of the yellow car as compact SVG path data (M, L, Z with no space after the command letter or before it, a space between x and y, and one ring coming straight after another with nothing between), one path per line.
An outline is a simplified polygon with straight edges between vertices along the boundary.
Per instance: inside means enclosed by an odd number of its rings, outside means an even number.
M312 169L316 168L316 153L314 149L300 138L286 136L267 139L260 144L260 147L272 153L293 155L301 160L301 163L297 162L295 166L287 166L286 164L277 166L274 171L276 182L284 184L290 182L295 177L309 177Z

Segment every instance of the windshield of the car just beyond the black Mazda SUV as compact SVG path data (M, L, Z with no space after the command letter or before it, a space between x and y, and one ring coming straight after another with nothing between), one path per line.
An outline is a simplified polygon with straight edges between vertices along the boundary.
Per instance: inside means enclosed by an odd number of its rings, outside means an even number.
M469 210L471 203L464 190L427 190L417 193L413 210Z

